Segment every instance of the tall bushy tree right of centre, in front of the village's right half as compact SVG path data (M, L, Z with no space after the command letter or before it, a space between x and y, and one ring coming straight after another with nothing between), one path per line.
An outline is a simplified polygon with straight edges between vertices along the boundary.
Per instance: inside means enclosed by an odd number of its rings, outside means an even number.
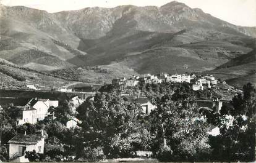
M180 85L173 95L156 99L150 114L152 149L160 161L202 161L207 159L208 125L200 120L190 87Z

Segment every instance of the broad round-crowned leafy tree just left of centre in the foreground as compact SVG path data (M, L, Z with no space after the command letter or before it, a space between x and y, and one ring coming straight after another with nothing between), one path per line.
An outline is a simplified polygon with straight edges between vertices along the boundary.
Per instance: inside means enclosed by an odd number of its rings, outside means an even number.
M133 138L140 125L137 119L142 112L140 106L122 97L120 92L112 89L109 93L96 93L77 109L83 143L90 148L102 146L107 157L132 154Z

